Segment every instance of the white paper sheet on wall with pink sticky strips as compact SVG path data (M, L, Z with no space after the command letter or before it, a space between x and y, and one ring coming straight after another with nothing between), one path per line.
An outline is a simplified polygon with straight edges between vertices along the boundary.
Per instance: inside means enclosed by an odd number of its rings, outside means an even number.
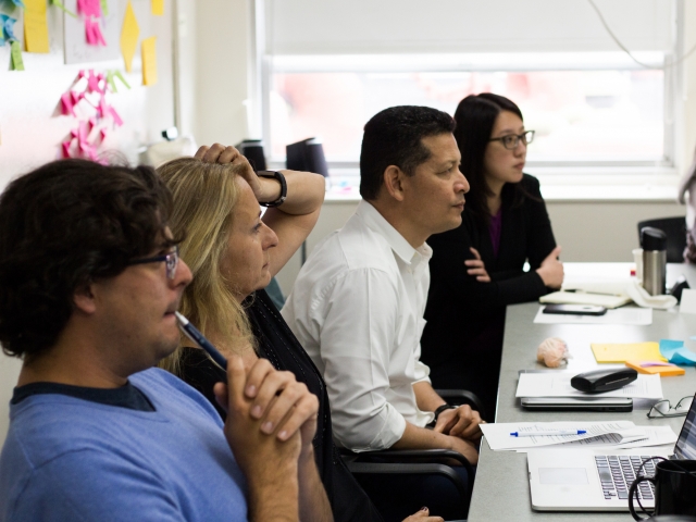
M77 13L77 0L65 0L65 9ZM102 62L121 58L120 38L123 13L119 9L119 0L109 0L109 12L99 20L105 46L89 45L85 33L85 15L77 18L63 14L63 34L65 63Z

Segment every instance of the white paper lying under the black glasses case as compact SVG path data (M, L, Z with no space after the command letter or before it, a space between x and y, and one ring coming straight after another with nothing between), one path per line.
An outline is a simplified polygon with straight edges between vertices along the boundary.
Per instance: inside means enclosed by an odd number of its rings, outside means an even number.
M633 397L661 399L662 385L659 375L638 375L634 382L613 391L586 394L570 385L570 373L522 373L517 397Z

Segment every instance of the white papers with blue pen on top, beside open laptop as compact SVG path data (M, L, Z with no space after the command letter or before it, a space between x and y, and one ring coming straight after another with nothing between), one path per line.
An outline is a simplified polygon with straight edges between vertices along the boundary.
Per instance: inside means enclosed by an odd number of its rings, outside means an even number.
M670 426L636 426L631 421L609 422L510 422L481 424L494 451L527 451L554 447L577 449L626 449L676 443ZM554 435L559 430L584 430L583 435ZM512 436L511 433L549 433L550 435Z

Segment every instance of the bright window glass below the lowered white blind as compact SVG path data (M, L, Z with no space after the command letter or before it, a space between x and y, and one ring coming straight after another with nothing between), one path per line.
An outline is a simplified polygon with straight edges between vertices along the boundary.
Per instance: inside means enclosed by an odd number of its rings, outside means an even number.
M580 58L566 60L580 64ZM597 61L584 60L591 62L587 69L563 71L453 71L445 64L438 65L445 71L408 72L398 69L408 69L412 61L401 57L398 62L391 57L391 71L276 71L269 102L272 156L282 159L286 144L318 136L330 163L356 162L362 127L378 111L419 104L453 114L462 98L484 91L520 105L526 128L536 130L531 162L655 164L670 156L664 144L666 77L660 69L609 62L599 70Z

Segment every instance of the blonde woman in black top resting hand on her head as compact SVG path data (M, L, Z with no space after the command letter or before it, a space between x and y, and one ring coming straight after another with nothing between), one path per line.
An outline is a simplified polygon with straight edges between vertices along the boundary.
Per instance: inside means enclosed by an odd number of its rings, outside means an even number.
M185 236L181 256L194 274L181 312L223 355L239 353L247 365L265 358L276 370L294 373L316 395L313 458L334 519L381 521L333 444L321 373L264 290L314 226L324 199L324 178L294 171L257 175L234 147L217 144L201 147L196 158L170 161L158 173L172 191L170 226L176 237ZM260 204L269 207L263 216ZM201 391L225 418L213 386L226 374L202 349L182 336L179 348L161 365ZM421 511L407 520L442 519Z

